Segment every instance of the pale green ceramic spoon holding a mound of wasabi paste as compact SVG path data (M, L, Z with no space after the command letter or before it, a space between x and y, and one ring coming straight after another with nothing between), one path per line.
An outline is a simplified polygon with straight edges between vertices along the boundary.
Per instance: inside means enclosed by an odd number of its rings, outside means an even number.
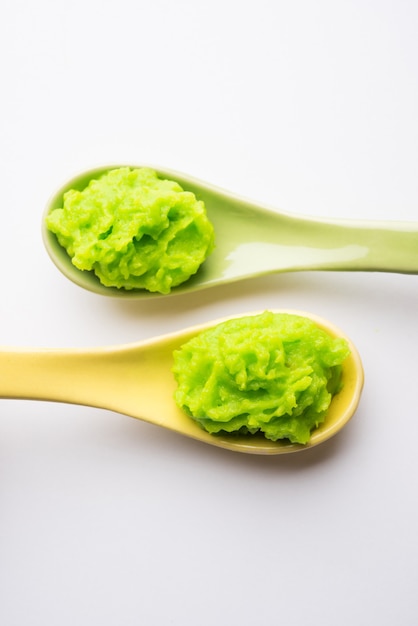
M114 167L80 174L52 197L46 212L62 206L65 191L83 189L90 179ZM418 222L379 222L313 219L278 213L185 174L154 168L176 180L206 204L215 227L216 248L198 273L171 295L273 272L305 270L380 271L418 273ZM47 251L67 278L85 289L125 298L152 298L161 294L104 287L92 272L71 263L54 234L45 227ZM166 296L164 296L166 297Z

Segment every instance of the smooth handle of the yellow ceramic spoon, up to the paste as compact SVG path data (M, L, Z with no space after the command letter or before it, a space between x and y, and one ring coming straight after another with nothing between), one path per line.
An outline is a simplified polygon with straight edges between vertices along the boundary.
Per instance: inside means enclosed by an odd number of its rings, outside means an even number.
M177 344L167 346L161 339L88 349L3 349L0 398L80 404L163 424L161 403L164 408L174 392Z

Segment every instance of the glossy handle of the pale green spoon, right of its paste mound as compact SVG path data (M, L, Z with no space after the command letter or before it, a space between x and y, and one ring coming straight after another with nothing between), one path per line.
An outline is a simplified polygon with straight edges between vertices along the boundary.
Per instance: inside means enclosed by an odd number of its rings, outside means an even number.
M295 215L183 182L207 203L215 232L228 235L217 242L227 260L217 269L228 280L297 270L418 273L418 222Z

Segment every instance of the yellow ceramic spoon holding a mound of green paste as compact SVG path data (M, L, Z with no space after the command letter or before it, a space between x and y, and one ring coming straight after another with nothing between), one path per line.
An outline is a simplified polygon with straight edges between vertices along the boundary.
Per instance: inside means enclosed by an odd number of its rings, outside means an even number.
M297 313L296 311L288 311ZM343 333L308 313L332 336ZM0 350L0 397L51 400L99 407L135 417L214 446L251 454L283 454L306 450L335 435L355 412L363 368L355 346L343 364L343 389L334 396L327 418L310 442L296 445L258 436L210 435L177 408L171 372L173 350L198 332L223 320L188 328L136 344L88 350Z

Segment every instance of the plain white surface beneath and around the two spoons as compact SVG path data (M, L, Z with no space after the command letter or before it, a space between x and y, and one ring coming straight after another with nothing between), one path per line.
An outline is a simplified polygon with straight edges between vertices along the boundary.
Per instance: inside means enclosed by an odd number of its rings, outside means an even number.
M288 211L418 220L412 0L5 0L0 343L136 341L312 311L364 361L360 409L287 458L118 414L1 401L4 626L417 622L418 276L294 274L121 302L49 261L46 201L84 168L189 172Z

